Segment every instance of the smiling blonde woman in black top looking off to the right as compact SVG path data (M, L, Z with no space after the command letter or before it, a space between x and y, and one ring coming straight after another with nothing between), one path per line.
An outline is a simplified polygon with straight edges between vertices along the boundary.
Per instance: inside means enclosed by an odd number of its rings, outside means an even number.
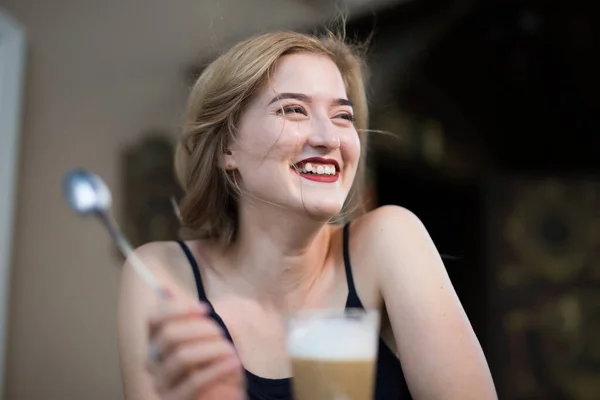
M419 219L386 206L332 223L361 202L363 70L334 35L280 32L200 76L176 154L193 239L137 250L172 299L123 273L127 399L290 399L284 315L347 306L383 311L377 399L496 397Z

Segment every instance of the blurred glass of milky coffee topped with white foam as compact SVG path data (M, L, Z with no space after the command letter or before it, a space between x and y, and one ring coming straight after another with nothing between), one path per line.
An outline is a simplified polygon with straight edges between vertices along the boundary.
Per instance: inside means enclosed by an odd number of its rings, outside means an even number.
M377 310L311 310L287 320L296 400L372 400Z

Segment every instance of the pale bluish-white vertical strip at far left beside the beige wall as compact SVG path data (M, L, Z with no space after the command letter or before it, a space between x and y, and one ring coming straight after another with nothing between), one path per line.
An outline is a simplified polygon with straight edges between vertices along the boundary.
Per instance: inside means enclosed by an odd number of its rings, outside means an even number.
M4 392L24 63L23 27L0 8L0 395Z

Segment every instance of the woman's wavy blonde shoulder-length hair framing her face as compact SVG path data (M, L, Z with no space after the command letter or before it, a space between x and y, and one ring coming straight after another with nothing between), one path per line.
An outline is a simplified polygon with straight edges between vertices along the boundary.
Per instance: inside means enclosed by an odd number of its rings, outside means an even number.
M238 228L239 188L235 176L220 166L227 146L235 140L240 115L289 54L329 56L339 68L353 103L361 141L357 175L337 220L363 210L368 107L362 49L332 32L323 37L297 32L274 32L238 43L213 61L194 84L183 133L175 154L175 171L184 195L179 210L183 235L216 239L227 246Z

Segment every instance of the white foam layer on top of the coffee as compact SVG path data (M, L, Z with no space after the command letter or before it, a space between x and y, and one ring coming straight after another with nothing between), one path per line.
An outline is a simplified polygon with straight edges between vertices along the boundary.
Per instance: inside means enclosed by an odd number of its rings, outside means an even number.
M302 321L288 334L292 357L328 360L373 359L377 332L353 320Z

